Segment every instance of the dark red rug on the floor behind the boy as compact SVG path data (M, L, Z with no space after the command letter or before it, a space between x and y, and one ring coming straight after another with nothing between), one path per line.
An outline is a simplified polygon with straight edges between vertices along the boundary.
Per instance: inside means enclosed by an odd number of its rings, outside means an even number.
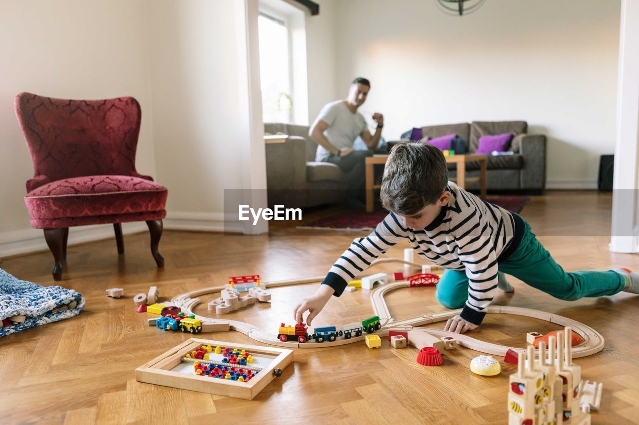
M528 203L528 197L488 197L486 198L491 204L520 213L523 207ZM380 205L376 205L373 213L367 213L364 209L345 209L338 214L320 218L311 223L304 223L298 228L325 228L330 230L373 230L381 220L388 214L388 211L382 209Z

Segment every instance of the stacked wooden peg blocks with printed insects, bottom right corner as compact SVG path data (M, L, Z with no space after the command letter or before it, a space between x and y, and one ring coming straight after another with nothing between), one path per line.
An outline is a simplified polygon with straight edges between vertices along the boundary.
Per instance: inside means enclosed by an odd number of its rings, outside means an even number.
M510 377L508 423L590 424L590 415L580 410L580 382L581 367L573 363L571 328L566 327L557 334L557 345L550 337L548 352L541 341L537 359L534 347L518 354L517 372Z

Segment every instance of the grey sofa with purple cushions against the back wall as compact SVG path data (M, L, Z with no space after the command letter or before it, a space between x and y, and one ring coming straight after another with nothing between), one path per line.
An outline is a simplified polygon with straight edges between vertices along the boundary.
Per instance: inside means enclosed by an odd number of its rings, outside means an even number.
M488 190L541 192L546 188L546 136L529 135L527 131L526 121L473 121L471 124L425 126L422 137L457 133L466 140L466 153L475 153L483 135L515 133L510 147L513 155L488 156ZM449 164L448 167L449 177L456 177L456 165ZM466 177L479 177L479 162L466 164Z

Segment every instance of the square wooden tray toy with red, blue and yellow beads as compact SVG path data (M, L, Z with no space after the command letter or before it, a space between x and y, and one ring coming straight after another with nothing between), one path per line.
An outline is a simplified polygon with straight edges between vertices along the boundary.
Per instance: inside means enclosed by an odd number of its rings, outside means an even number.
M135 369L135 380L250 400L292 361L293 350L190 338Z

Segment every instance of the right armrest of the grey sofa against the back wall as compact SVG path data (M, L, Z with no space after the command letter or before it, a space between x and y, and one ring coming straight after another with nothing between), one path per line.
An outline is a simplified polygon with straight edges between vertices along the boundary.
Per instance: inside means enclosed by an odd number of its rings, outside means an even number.
M523 156L521 189L544 190L546 188L546 136L518 135L512 147L514 151L519 149Z

